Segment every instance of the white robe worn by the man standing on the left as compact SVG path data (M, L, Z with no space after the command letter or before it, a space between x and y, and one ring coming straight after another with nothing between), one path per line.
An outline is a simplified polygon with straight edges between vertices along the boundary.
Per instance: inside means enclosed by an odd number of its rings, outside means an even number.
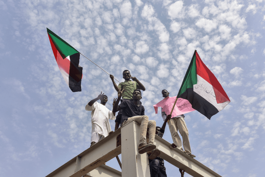
M110 111L106 106L98 103L97 101L92 105L86 105L87 111L91 112L91 122L92 122L92 131L93 133L98 133L104 137L109 135L111 131L109 119L114 120L115 116L112 111Z

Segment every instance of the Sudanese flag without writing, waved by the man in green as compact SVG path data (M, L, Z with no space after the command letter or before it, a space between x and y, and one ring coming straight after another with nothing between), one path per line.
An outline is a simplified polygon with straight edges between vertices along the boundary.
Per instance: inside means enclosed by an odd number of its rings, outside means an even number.
M79 66L80 52L47 28L52 51L65 82L72 92L81 92L83 68Z

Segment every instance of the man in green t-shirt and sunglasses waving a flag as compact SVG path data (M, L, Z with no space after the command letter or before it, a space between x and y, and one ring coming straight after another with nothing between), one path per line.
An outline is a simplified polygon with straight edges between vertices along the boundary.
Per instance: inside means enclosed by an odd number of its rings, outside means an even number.
M121 95L122 100L121 100L121 102L124 99L131 100L132 99L132 94L133 94L135 89L140 89L140 90L145 91L144 85L138 79L136 79L136 77L132 77L129 70L127 70L127 69L124 70L122 72L122 75L123 75L123 79L125 79L125 81L119 83L119 85L117 85L115 83L114 76L109 75L110 79L112 80L112 83L113 83L113 86L114 86L115 90L117 92L118 91L122 92L122 95ZM119 111L118 115L116 116L115 130L117 130L119 125L120 125L118 122L120 122L120 120L121 120L121 115L122 115L121 113L122 113L122 110Z

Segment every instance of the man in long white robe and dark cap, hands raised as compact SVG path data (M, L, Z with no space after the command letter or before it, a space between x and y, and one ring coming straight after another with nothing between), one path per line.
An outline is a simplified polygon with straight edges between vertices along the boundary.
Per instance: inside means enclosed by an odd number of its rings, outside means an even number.
M97 102L97 100L100 100L100 104ZM109 132L111 131L109 119L115 119L115 112L112 112L108 108L106 108L105 105L107 101L108 97L104 95L104 93L102 94L101 92L97 98L94 98L93 100L89 101L86 105L86 110L92 111L91 146L108 136ZM113 100L112 105L114 104L115 100Z

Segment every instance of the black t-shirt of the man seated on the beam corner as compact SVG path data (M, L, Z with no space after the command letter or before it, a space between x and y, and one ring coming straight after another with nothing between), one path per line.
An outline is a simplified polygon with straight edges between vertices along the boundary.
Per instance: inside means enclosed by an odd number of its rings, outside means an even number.
M122 116L119 123L127 120L129 117L144 115L144 106L134 105L133 100L124 100L119 107L122 109Z

